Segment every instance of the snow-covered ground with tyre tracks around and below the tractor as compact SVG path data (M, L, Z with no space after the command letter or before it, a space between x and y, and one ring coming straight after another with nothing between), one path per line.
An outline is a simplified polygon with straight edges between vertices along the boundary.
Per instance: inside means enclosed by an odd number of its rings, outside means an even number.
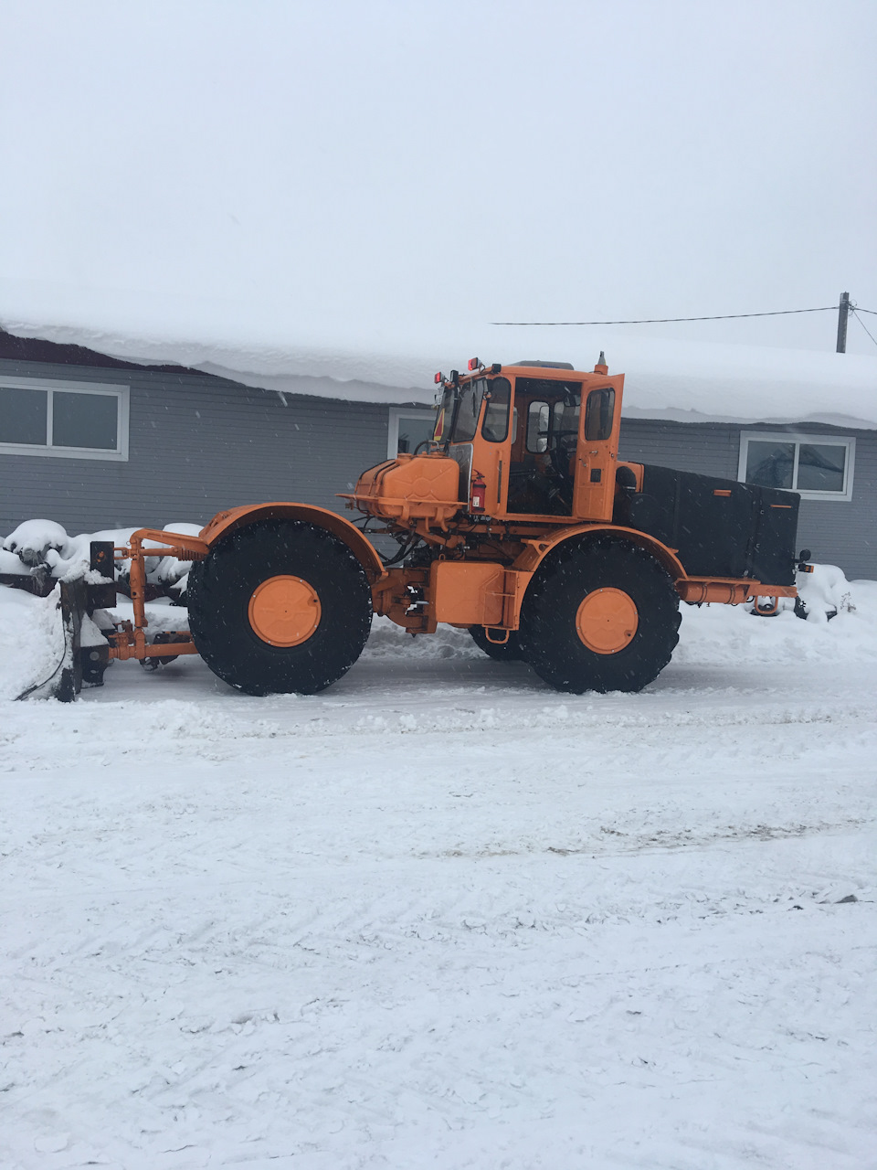
M641 695L381 621L323 695L181 659L64 707L8 701L56 614L0 587L0 1164L877 1166L849 601L683 607Z

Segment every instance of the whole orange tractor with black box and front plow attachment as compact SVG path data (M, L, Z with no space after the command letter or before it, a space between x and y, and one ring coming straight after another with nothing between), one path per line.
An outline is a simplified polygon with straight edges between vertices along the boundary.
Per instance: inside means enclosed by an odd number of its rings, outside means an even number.
M640 690L670 661L681 600L771 613L796 596L800 497L620 461L623 381L602 353L587 373L475 359L462 377L436 374L434 438L344 496L358 524L263 503L220 512L198 537L143 529L124 549L95 544L89 579L105 584L83 586L81 608L110 607L111 560L130 559L133 621L77 647L74 672L99 682L111 659L200 654L248 694L312 694L357 661L378 613L412 634L469 629L558 690ZM191 633L147 627L157 555L193 562Z

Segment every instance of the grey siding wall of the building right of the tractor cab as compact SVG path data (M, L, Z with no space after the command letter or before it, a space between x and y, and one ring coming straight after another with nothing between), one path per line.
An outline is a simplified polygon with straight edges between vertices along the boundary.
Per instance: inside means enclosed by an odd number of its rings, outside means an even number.
M768 424L741 427L623 419L619 453L622 459L640 463L661 463L681 472L736 480L744 429L835 434L856 440L852 500L802 500L797 545L810 549L815 560L840 565L850 579L877 579L877 433L873 431L809 422L794 427Z

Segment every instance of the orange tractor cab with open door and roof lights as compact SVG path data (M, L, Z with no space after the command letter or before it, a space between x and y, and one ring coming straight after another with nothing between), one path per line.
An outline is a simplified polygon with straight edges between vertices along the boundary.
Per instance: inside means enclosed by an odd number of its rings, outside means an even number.
M602 355L601 355L602 359ZM507 521L608 519L623 376L568 363L469 363L442 379L435 442L460 467L469 512Z

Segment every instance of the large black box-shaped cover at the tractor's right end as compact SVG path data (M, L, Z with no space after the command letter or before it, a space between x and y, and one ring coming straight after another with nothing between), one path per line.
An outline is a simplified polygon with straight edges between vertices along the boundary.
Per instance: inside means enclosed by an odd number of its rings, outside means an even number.
M616 524L678 550L689 577L751 577L794 585L795 491L643 466L642 491L620 488Z

